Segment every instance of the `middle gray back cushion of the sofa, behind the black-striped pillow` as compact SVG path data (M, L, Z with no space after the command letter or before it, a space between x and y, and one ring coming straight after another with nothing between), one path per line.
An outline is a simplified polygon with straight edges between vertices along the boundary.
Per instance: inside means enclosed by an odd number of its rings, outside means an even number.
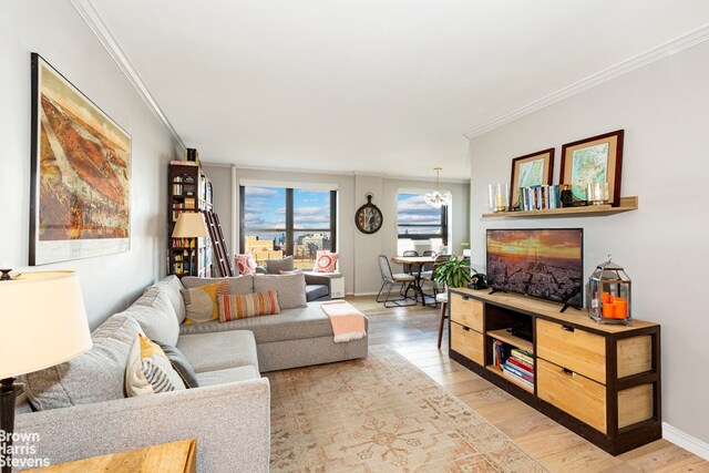
M151 340L164 345L177 343L179 323L175 309L163 288L148 287L124 313L137 320L143 332Z

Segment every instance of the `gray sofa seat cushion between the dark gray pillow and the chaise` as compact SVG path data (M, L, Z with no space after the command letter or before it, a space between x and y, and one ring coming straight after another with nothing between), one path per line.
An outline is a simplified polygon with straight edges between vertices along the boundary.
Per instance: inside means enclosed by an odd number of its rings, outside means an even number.
M257 317L267 319L269 317ZM249 319L246 319L249 320ZM218 321L214 322L216 325ZM212 325L212 322L207 322ZM198 327L191 326L191 327ZM248 330L235 330L183 335L177 341L177 349L187 358L195 372L218 371L251 364L258 370L256 341Z

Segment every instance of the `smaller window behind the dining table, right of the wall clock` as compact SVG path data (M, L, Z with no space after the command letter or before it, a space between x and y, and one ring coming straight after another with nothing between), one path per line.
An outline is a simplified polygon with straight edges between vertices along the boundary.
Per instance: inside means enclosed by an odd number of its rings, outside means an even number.
M438 238L448 245L448 208L425 203L423 194L399 194L397 224L399 239Z

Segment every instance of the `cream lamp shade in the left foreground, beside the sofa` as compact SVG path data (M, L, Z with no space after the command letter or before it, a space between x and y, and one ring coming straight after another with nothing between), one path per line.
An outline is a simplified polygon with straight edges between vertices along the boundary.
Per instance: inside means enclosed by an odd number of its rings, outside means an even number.
M28 273L0 281L0 379L63 363L91 345L75 273Z

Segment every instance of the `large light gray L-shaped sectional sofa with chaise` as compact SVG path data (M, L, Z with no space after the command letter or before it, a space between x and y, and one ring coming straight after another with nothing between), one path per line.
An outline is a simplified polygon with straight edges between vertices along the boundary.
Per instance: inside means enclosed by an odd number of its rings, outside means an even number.
M279 281L273 278L277 276L229 278L229 290L277 287ZM185 307L179 290L209 282L165 278L100 326L88 353L28 374L23 398L30 402L24 399L18 407L16 432L37 433L39 442L25 456L55 464L196 439L199 472L268 471L270 391L260 372L364 358L367 337L335 343L318 302L282 309L278 316L181 325ZM127 340L138 330L182 351L199 387L121 395L121 363ZM33 412L32 405L42 410Z

